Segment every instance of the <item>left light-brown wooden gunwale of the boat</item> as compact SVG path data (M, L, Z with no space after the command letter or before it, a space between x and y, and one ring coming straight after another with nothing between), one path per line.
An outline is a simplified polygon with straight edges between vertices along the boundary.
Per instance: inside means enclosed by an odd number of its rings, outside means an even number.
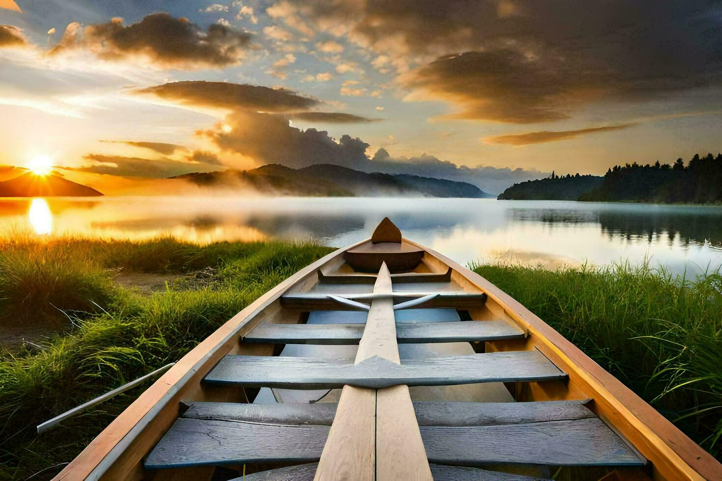
M365 242L368 242L368 239L342 247L325 257L321 257L321 259L291 275L285 281L279 283L278 286L246 306L238 314L235 314L144 391L53 480L99 480L109 469L118 469L116 466L118 459L131 449L131 446L139 439L139 435L143 433L149 424L157 420L157 416L165 410L170 402L180 402L181 396L187 394L186 391L190 389L195 389L196 392L201 391L201 379L234 345L238 345L240 330L244 327L253 327L250 324L251 321L256 319L257 314L261 313L274 301L277 301L295 283L308 275L313 274L315 276L316 270L321 268L322 265L339 255L343 255L346 250ZM257 320L260 322L261 318ZM152 444L138 456L138 459L129 460L133 464L126 465L124 469L126 474L131 474L132 469L137 469L136 466L142 461L142 456L147 454L147 451L160 440L160 437L173 424L173 421L177 418L178 408L170 407L170 412L175 413L175 415L168 416L168 421L162 425L160 430L154 433ZM123 472L122 469L121 472Z

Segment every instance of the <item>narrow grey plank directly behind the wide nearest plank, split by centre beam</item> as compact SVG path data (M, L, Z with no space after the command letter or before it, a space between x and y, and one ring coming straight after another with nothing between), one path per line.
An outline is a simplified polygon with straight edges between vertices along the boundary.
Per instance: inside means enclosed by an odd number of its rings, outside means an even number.
M286 402L271 405L194 402L183 418L268 424L331 425L335 402ZM414 402L421 426L486 426L594 418L582 401Z

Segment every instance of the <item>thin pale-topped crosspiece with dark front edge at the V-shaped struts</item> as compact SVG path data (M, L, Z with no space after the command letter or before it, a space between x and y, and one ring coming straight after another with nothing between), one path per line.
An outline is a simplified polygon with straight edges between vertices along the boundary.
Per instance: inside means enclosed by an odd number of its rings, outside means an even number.
M293 293L281 296L281 305L289 309L303 309L311 311L314 309L338 309L339 303L332 296L348 299L355 302L373 301L383 296L391 296L394 301L402 302L417 299L422 296L437 294L433 299L425 302L424 307L479 307L487 301L486 294L474 294L466 292L392 292L391 294L324 294L324 293Z

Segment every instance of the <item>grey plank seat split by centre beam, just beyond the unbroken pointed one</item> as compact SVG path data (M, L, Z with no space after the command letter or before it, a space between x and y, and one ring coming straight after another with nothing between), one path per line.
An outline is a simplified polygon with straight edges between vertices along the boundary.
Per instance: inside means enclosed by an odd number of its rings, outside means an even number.
M248 332L246 343L358 344L361 324L261 324ZM504 321L423 322L396 325L398 343L462 343L523 337L518 327Z

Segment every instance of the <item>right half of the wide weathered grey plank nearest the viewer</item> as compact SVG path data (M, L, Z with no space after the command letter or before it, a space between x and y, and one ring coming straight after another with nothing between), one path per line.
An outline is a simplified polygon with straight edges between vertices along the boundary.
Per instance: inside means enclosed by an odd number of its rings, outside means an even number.
M421 428L430 462L479 465L642 466L599 418L492 426Z

